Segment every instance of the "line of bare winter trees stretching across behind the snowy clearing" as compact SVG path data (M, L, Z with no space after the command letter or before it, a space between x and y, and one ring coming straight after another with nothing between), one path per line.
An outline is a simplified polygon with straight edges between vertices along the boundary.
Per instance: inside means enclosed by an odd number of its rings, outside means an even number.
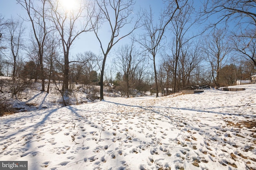
M256 72L255 1L164 0L158 13L151 7L136 13L133 0L80 0L72 10L57 0L16 2L26 19L0 16L0 74L12 76L12 84L40 80L49 93L50 82L61 82L63 98L74 83L100 85L103 100L107 83L123 96L157 97L200 84L234 85ZM101 54L71 54L89 32ZM124 38L130 41L120 45Z

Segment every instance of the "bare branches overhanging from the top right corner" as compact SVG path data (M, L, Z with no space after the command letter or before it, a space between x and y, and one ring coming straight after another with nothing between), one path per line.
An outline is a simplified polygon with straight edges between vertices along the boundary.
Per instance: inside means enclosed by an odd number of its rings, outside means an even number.
M218 16L218 20L214 23L211 22L209 27L216 27L223 22L228 27L228 23L232 23L232 26L236 27L236 31L233 33L234 37L236 37L234 41L235 50L246 56L256 66L253 55L249 54L249 51L252 51L254 48L254 42L256 41L255 0L206 0L202 14L205 20ZM240 44L238 45L236 41Z

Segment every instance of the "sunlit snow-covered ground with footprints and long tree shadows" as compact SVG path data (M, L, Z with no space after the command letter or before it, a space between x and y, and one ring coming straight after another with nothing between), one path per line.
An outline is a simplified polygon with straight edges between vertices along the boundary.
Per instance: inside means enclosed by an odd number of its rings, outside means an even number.
M29 170L254 170L256 84L0 117L0 160Z

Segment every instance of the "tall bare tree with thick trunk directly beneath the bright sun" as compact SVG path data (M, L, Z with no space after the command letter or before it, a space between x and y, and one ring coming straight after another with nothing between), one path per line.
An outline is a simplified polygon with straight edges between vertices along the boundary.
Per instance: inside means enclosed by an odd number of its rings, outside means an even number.
M78 9L71 11L65 11L59 1L48 0L48 2L51 8L51 14L48 17L54 24L54 27L60 36L60 44L64 55L62 91L64 92L64 96L68 96L70 48L80 34L92 29L89 23L89 16L84 14L85 11L90 13L91 10L89 9L88 4L83 4L84 1L80 3ZM81 25L80 28L78 25Z

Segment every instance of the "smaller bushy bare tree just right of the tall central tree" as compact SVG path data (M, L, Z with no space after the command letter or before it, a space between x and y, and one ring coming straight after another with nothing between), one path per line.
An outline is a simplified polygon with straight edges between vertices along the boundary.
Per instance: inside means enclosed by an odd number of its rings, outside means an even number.
M130 87L135 85L135 74L142 61L143 55L134 47L133 43L131 45L123 45L116 51L114 64L116 69L123 75L127 98L129 98Z

